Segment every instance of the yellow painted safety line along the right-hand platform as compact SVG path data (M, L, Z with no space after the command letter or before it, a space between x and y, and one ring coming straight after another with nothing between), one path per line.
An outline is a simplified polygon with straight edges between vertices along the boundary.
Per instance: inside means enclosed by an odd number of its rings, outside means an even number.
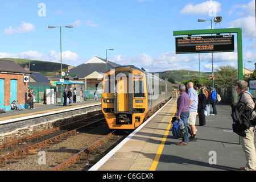
M177 110L177 107L174 110L174 114L172 114L172 118L175 116L176 110ZM158 166L160 156L162 155L162 152L163 152L164 144L166 143L166 139L167 139L168 134L171 130L172 118L171 118L171 121L170 121L169 125L167 126L166 133L164 133L164 137L162 139L162 142L160 143L160 146L158 147L158 151L156 152L154 161L151 164L150 171L155 171L156 167Z

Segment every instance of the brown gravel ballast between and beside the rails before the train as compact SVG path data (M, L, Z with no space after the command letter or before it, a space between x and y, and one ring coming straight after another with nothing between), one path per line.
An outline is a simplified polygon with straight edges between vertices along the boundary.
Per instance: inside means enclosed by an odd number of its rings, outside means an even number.
M97 134L94 134L96 133L96 130ZM99 130L101 131L101 134L99 134ZM110 133L110 130L106 125L96 127L86 133L77 133L76 135L72 135L62 142L48 146L48 148L40 148L39 150L35 151L33 155L26 155L23 159L13 159L4 166L1 166L0 170L48 171L64 160L67 160L71 156L77 154L84 148L90 146L90 144L96 142L98 139L101 139L108 133ZM84 161L83 163L74 164L71 167L64 168L64 170L81 171L89 169L94 163L100 160L101 155L104 156L108 150L113 148L113 144L115 144L117 140L120 140L123 137L123 135L113 135L112 138L106 140L100 146L96 147L92 152L90 152L92 155L88 155L86 158L82 159L82 161ZM43 154L46 154L46 164L39 164L40 162L43 162L43 156L40 155L39 151L43 151Z

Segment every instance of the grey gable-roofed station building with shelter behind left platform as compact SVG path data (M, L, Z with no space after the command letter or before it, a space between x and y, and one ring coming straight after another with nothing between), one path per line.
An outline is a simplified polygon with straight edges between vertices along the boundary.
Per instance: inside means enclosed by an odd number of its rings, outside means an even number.
M108 64L108 67L107 67ZM93 90L98 88L98 85L102 82L102 78L106 69L114 69L119 67L119 64L108 61L106 63L105 59L94 56L92 59L86 61L84 64L81 64L77 67L69 69L65 72L64 82L62 83L64 89L69 90L69 88L76 89L76 97L78 100L76 102L81 102L79 90L82 89L84 94L83 98L92 99L94 98ZM57 102L60 102L62 93L61 93L61 75L56 75L49 78L52 85L56 85L57 92ZM101 98L101 90L98 89L98 98Z

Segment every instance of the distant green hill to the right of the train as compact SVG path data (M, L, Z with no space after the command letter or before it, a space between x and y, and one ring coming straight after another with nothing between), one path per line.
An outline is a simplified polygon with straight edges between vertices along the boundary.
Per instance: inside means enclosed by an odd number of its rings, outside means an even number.
M159 77L164 77L167 79L172 77L177 84L191 78L199 78L199 72L190 70L173 70L158 73ZM201 78L209 78L210 75L212 75L212 73L201 72Z

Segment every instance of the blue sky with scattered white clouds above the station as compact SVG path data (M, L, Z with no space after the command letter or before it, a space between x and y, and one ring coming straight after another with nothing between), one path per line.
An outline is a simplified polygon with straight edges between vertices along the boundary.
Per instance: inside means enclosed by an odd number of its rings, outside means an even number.
M93 56L121 65L133 64L150 72L189 69L199 71L198 54L175 54L177 30L210 28L222 16L221 28L243 31L243 60L246 68L256 63L255 1L207 0L0 0L0 57L60 63L62 28L63 63L77 66ZM220 24L213 23L213 28ZM247 63L248 60L253 63ZM210 53L200 54L200 69L212 71ZM235 52L214 53L214 67L237 68Z

